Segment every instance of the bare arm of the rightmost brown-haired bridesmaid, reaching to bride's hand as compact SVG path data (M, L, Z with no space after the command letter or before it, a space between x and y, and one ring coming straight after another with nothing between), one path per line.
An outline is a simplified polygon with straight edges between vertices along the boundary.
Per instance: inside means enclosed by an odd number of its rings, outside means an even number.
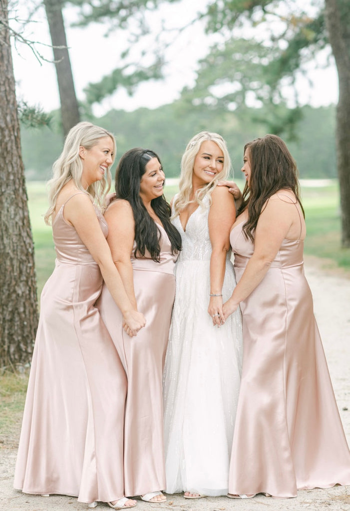
M277 199L277 200L276 200ZM225 318L261 283L294 222L295 205L270 197L260 214L254 252L231 297L223 306Z

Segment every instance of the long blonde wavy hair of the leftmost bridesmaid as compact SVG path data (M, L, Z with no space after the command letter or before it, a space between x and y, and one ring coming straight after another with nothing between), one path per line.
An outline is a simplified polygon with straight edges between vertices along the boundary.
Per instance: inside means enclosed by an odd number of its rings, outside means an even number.
M50 225L51 218L55 211L57 196L64 185L71 179L78 190L90 195L92 200L100 207L103 207L104 199L110 189L111 173L109 168L104 175L104 179L90 184L85 190L81 184L81 176L83 172L83 162L79 156L79 148L82 146L89 150L96 146L100 138L109 136L113 142L114 161L116 144L114 136L109 131L95 124L81 122L73 126L67 133L64 141L63 151L53 165L53 177L48 182L49 188L49 209L46 211L44 220Z

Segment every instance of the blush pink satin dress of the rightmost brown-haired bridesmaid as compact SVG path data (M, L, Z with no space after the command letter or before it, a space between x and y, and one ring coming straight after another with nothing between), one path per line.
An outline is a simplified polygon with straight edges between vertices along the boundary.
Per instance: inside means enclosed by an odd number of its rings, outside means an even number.
M230 234L239 282L253 254L243 223ZM243 368L230 494L295 497L350 484L342 428L304 275L303 242L285 239L263 281L241 302Z

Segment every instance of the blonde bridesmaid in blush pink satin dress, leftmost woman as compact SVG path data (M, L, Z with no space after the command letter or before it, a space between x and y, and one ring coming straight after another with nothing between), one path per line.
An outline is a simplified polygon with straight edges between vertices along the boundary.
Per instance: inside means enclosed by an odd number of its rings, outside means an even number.
M144 316L130 303L99 211L109 189L113 136L90 123L67 134L54 164L50 207L57 254L40 302L14 487L77 496L95 507L133 507L124 497L123 367L95 302L103 279L136 335Z

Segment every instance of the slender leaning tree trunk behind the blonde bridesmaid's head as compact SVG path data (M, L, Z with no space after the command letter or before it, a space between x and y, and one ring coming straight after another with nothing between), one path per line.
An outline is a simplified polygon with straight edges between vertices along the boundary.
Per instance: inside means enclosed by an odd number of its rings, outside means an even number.
M54 51L64 136L80 121L71 61L64 30L61 0L43 0ZM62 47L62 48L56 48Z

